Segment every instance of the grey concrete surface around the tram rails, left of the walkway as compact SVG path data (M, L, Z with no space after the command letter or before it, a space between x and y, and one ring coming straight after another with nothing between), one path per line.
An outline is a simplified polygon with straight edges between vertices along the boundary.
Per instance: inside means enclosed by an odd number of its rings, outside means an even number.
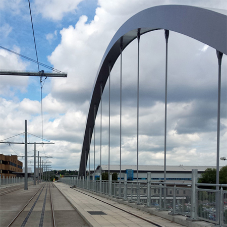
M43 218L43 227L53 226L52 224L52 212L50 205L49 184L39 184L36 186L30 186L28 190L23 189L11 192L7 195L0 196L0 227L8 226L9 223L16 217L16 215L22 210L29 199L39 190L40 187L45 186L42 193L38 192L36 196L31 200L23 212L18 216L12 227L19 227L27 217L27 214L35 204L32 213L30 214L26 226L39 226L41 213L44 204L44 198L46 194L45 212ZM46 190L47 188L47 190ZM71 206L71 204L63 197L56 187L50 187L52 201L55 210L55 223L61 227L71 226L88 226L84 219L77 213L77 211Z

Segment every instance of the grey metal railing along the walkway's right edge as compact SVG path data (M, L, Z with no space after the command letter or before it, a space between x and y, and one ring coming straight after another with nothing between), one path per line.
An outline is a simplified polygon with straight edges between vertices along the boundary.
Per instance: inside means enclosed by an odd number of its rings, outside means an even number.
M197 171L192 172L197 179ZM149 179L149 178L148 178ZM63 183L86 189L100 195L119 198L138 205L170 211L171 215L184 215L191 220L204 220L227 226L227 185L172 182L101 181L61 178ZM101 185L101 187L100 187ZM219 186L219 190L210 189ZM202 188L201 188L202 187Z

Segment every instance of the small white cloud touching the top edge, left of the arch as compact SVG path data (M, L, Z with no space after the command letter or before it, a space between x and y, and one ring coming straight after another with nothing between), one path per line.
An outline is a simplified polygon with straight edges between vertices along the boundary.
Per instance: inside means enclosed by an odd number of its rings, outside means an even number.
M77 6L83 0L35 0L37 13L44 18L61 20L69 13L75 13Z

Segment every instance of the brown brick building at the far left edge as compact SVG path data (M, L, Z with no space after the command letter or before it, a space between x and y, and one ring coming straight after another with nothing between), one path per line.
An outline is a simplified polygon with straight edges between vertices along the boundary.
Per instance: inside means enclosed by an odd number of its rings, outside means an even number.
M22 173L23 163L17 159L17 155L0 154L1 177L16 177L14 173Z

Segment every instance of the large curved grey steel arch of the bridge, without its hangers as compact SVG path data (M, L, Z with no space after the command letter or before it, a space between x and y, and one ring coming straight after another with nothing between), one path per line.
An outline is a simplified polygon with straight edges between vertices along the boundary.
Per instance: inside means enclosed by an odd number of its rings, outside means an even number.
M100 63L92 91L87 124L82 145L79 175L85 175L85 165L90 152L90 142L95 125L102 91L121 51L140 35L165 29L196 39L227 55L227 11L183 5L163 5L145 9L128 19L110 41ZM94 113L94 107L96 113ZM90 136L89 136L90 130Z

